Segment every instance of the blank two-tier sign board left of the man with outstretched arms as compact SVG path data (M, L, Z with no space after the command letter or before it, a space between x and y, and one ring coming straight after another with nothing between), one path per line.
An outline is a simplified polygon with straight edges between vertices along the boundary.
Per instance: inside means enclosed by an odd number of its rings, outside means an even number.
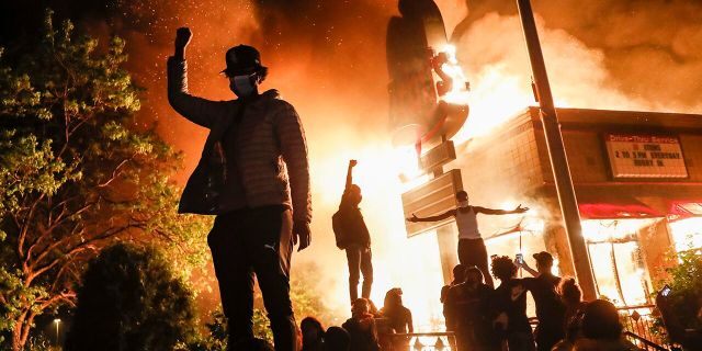
M423 185L419 185L403 194L405 217L416 214L418 217L440 215L456 207L455 194L463 190L461 170L452 169ZM411 223L405 222L407 237L422 234L453 222L450 217L440 222Z

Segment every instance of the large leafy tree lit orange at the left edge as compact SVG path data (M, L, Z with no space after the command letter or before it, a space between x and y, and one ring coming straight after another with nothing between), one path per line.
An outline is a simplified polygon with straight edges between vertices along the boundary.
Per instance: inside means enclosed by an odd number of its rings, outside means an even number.
M0 347L13 350L36 316L73 303L105 246L155 242L185 268L203 262L210 226L176 212L182 157L136 123L124 41L100 46L47 11L42 41L23 47L0 48Z

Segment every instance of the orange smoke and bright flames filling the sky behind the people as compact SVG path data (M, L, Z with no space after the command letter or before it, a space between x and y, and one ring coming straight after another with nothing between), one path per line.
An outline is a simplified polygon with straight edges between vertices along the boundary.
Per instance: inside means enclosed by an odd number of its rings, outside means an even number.
M471 82L471 115L460 144L499 128L535 104L531 69L514 1L437 1L456 58ZM698 1L533 1L556 105L702 113L702 3ZM373 241L372 298L401 287L419 329L441 318L441 267L432 236L407 239L397 177L407 158L394 151L388 127L385 34L396 1L116 1L107 23L89 27L128 43L128 68L145 87L139 118L157 124L184 152L184 182L206 131L168 105L166 59L176 29L194 33L189 48L190 90L233 99L225 52L237 44L261 50L270 68L263 89L295 105L308 141L314 214L312 247L293 258L293 282L315 274L328 307L348 310L343 251L335 247L337 211L349 159ZM410 156L411 159L411 156ZM506 188L509 184L505 184ZM314 263L314 271L310 271ZM304 269L303 269L304 268ZM428 281L428 280L435 281ZM213 294L211 304L217 302ZM301 316L302 318L303 316Z

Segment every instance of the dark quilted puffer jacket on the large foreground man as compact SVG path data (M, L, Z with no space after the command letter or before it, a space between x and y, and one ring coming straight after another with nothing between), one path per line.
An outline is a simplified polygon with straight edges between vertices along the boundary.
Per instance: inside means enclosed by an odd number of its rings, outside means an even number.
M247 103L239 100L210 101L188 91L188 64L168 59L168 101L191 122L210 129L197 167L181 195L179 213L216 215L237 208L223 208L226 174L222 139L236 128L236 154L241 199L227 199L244 207L285 205L295 222L312 220L312 195L305 132L295 109L275 90ZM235 118L240 118L236 125ZM231 132L229 132L231 133ZM233 161L233 160L230 160Z

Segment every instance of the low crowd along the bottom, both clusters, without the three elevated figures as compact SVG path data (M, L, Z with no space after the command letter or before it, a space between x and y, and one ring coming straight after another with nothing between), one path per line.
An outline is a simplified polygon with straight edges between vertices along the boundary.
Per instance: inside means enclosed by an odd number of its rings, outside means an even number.
M548 252L535 253L533 259L535 269L520 258L494 256L490 272L497 288L486 283L475 265L454 268L454 280L441 290L441 302L446 331L455 336L457 351L638 350L625 340L612 303L584 302L575 279L552 273ZM533 276L517 278L520 268ZM526 314L528 293L535 304L535 319ZM316 318L304 318L297 350L409 350L412 317L401 295L400 288L389 290L380 310L371 299L354 299L351 318L340 327L325 329ZM269 349L261 343L256 350Z

